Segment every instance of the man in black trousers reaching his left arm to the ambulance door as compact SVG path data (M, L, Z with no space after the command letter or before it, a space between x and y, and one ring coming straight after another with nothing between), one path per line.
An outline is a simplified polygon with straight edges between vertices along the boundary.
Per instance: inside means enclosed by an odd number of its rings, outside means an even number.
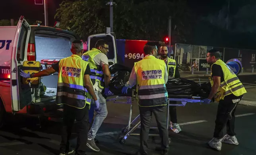
M74 150L69 149L69 139L72 127L76 119L78 125L78 138L76 146L76 155L85 155L89 104L85 102L88 98L85 95L85 89L92 96L94 102L99 108L99 101L93 91L93 85L90 80L89 63L81 59L83 53L83 43L80 40L72 42L71 52L73 55L61 59L58 63L52 65L51 68L43 70L35 74L24 73L21 76L26 78L48 76L58 72L58 86L56 94L56 104L64 104L64 117L62 128L62 140L60 143L60 155L71 154Z

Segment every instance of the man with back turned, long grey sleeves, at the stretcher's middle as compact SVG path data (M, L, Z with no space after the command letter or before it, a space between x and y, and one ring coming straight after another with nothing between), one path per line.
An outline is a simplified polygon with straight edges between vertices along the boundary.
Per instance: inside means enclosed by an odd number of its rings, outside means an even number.
M167 128L168 93L165 84L168 81L167 67L164 61L157 59L157 46L147 43L144 46L145 57L134 63L129 81L122 88L137 85L136 98L140 109L140 155L147 155L147 140L152 113L155 115L161 137L161 154L167 155L169 136Z

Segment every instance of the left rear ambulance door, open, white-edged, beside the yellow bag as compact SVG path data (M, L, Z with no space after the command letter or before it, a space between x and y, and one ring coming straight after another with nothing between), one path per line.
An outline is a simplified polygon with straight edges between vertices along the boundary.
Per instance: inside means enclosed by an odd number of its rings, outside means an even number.
M26 55L30 32L31 28L29 24L25 18L21 16L17 24L16 33L14 36L11 57L11 92L13 112L18 112L27 105L27 101L23 100L24 97L21 97L23 92L21 92L21 76L19 72L23 66L23 62L27 60ZM30 97L27 97L26 100L31 102L31 91L30 89L27 90L30 93Z

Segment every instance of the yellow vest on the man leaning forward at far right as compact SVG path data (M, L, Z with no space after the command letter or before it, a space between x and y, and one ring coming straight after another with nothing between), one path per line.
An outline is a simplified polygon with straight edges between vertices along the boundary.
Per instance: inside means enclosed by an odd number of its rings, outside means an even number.
M235 95L235 96L241 96L246 92L244 85L242 85L242 82L239 80L237 75L223 62L222 60L217 60L214 64L217 64L221 66L221 69L223 71L224 81L221 82L221 85L219 87L218 92L215 95L215 100L223 100L225 96L227 95ZM212 75L212 73L211 73ZM213 78L209 77L211 87L213 86Z

